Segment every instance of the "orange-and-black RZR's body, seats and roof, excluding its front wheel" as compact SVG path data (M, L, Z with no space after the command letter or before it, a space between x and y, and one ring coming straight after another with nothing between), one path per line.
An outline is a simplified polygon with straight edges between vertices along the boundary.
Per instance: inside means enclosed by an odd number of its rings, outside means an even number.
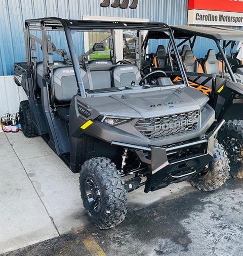
M243 31L179 25L171 28L174 38L180 40L177 47L188 84L210 97L210 105L215 109L217 119L243 119L243 66L233 53L237 41L243 41ZM182 77L179 73L176 74L178 67L174 61L175 53L170 44L162 44L165 39L165 35L148 31L143 42L145 60L149 62L151 70L168 71L163 63L173 63L171 79L173 82L180 82ZM215 49L202 48L202 42L206 39L215 42ZM152 44L149 43L148 50L148 42L152 40L158 40L161 44L159 47L163 50L154 49L155 53L149 52ZM205 52L205 57L199 56L194 48ZM230 55L226 55L226 49Z

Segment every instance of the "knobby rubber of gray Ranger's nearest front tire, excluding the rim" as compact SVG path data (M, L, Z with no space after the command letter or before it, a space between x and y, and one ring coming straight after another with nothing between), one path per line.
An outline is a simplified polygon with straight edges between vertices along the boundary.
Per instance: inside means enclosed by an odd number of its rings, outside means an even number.
M101 193L104 195L104 200L102 200L104 205L102 207L105 210L100 218L90 213L86 195L82 189L82 186L84 186L83 177L85 177L87 172L91 172L92 175L103 180ZM109 229L117 226L125 219L127 214L127 191L120 172L111 163L110 159L95 157L86 161L80 171L79 184L84 207L97 227Z

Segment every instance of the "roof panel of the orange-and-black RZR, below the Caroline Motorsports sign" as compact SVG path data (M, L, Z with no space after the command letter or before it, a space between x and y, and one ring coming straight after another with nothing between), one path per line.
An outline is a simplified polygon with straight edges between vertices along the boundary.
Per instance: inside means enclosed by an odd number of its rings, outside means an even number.
M171 26L174 37L179 39L201 36L214 40L243 41L243 31L226 27L201 27L201 26Z

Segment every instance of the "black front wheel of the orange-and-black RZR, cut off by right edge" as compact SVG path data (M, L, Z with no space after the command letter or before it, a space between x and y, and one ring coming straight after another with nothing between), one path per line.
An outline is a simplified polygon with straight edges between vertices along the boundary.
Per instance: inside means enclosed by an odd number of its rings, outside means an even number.
M218 133L218 140L224 146L233 178L243 178L243 120L229 120Z

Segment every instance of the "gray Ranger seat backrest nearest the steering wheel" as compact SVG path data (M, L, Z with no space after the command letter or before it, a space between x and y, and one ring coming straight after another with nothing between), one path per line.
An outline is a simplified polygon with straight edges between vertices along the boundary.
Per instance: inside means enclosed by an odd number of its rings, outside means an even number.
M114 87L136 86L141 81L141 74L135 65L118 65L112 70Z

